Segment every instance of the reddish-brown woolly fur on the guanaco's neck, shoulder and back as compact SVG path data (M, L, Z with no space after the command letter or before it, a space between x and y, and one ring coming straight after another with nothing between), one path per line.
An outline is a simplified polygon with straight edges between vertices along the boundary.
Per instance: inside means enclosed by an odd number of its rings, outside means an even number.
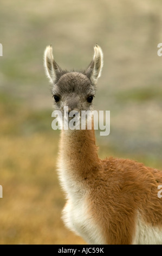
M70 173L74 181L84 187L88 214L99 224L106 243L131 244L138 211L146 223L162 227L162 200L157 196L160 170L128 159L100 160L93 130L70 135L62 131L60 154L74 170Z

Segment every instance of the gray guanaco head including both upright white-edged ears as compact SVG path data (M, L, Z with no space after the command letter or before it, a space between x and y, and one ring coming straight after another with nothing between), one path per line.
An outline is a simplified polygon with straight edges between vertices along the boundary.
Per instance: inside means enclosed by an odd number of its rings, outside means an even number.
M53 84L54 106L63 112L68 106L69 112L91 110L98 78L103 66L103 53L99 45L94 47L94 57L83 72L62 70L54 60L53 48L47 46L44 52L44 67L47 77Z

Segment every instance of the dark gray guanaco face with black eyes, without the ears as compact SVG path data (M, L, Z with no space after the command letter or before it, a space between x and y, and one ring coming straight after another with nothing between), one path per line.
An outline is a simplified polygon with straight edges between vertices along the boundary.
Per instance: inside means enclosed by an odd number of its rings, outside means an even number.
M54 106L63 113L68 106L69 112L91 110L95 95L95 86L86 75L80 72L69 72L62 75L53 86Z

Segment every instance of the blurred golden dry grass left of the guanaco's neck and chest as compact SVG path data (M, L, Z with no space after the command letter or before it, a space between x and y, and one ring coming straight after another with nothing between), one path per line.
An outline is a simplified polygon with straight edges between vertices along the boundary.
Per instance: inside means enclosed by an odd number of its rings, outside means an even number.
M51 141L41 133L1 138L1 244L83 243L60 219L64 200L55 171L56 141L52 147Z

